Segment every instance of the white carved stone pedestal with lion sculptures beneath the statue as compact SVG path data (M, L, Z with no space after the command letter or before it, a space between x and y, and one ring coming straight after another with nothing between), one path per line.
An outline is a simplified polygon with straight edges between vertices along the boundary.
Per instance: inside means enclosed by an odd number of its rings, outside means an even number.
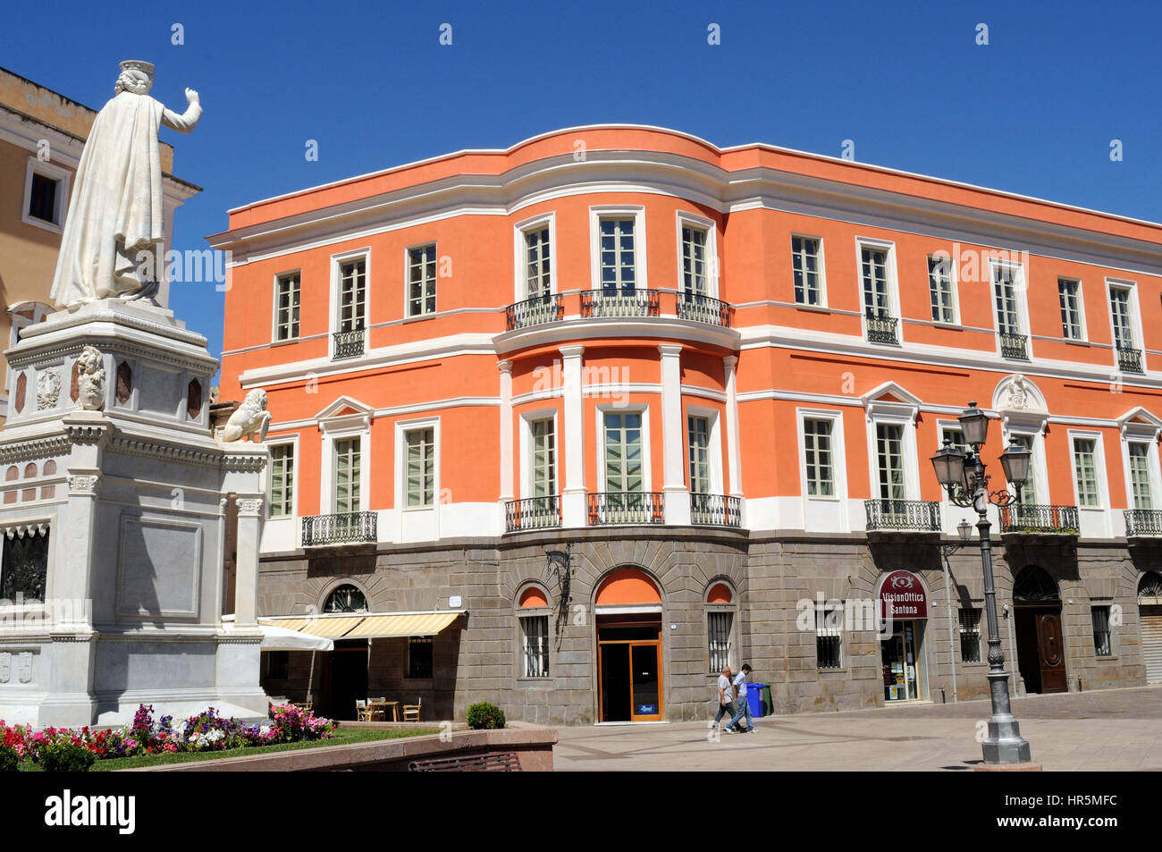
M170 310L102 300L24 329L7 357L0 718L116 724L141 703L265 717L252 601L267 451L210 437L206 338ZM230 493L249 509L248 587L223 627Z

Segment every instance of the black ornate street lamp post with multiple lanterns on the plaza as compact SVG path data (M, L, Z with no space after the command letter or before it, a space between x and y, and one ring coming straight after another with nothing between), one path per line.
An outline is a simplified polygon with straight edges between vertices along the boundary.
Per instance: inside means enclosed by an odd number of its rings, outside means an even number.
M988 437L989 417L975 402L969 402L960 416L960 425L964 444L970 449L966 452L946 441L944 449L932 457L932 466L940 485L948 492L948 499L956 506L974 508L978 517L976 529L981 534L984 611L989 624L989 697L992 702L989 736L983 746L984 762L1026 764L1031 759L1028 743L1020 736L1020 725L1009 703L1009 672L1005 671L1005 656L1000 650L997 590L992 582L992 545L989 538L991 524L987 510L989 503L1002 507L1020 503L1020 489L1028 479L1030 452L1019 444L1011 444L1000 453L1005 479L1013 485L1016 494L1003 488L990 492L990 477L984 473L984 463L981 460L981 446ZM963 538L963 531L961 537Z

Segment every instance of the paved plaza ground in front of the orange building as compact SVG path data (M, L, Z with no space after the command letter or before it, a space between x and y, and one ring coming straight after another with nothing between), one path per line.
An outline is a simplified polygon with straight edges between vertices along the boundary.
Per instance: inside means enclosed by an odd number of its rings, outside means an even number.
M1048 771L1162 771L1162 686L1013 701L1033 760ZM988 701L767 716L752 735L708 738L708 723L561 728L559 772L970 771Z

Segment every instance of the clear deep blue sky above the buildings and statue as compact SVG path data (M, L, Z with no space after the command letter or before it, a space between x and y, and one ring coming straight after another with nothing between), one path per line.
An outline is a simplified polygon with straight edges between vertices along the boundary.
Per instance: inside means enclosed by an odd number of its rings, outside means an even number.
M0 65L94 108L121 59L153 62L179 112L199 90L193 135L163 131L205 187L178 249L248 201L604 122L833 156L852 139L856 160L1162 221L1152 6L42 0L6 5ZM213 284L171 298L215 355L222 305Z

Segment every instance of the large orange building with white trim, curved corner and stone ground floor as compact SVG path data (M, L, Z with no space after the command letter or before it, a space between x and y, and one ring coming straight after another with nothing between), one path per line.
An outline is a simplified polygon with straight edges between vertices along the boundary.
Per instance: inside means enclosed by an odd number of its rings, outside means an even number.
M1032 453L990 510L1016 688L1162 679L1162 225L587 127L210 243L221 398L272 413L263 611L337 639L268 692L690 719L745 660L779 711L983 696L973 513L928 461L970 400L994 489ZM888 578L916 617L854 623Z

